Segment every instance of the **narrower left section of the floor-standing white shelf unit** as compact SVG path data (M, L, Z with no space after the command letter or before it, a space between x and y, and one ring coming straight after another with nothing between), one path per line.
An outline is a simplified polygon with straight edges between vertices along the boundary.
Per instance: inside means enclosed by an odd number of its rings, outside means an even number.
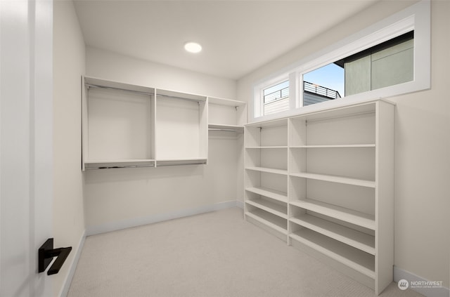
M288 120L245 126L245 216L288 235Z

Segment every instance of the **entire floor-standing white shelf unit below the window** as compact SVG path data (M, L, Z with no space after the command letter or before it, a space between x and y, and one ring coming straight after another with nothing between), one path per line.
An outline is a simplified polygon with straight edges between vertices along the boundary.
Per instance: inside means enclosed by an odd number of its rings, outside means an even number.
M245 125L245 218L380 294L394 263L394 107Z

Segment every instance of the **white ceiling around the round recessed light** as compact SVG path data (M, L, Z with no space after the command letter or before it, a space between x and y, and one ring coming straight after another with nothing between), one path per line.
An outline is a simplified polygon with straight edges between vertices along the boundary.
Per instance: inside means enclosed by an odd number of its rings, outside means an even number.
M239 79L378 0L75 0L87 46ZM203 46L184 51L187 41Z

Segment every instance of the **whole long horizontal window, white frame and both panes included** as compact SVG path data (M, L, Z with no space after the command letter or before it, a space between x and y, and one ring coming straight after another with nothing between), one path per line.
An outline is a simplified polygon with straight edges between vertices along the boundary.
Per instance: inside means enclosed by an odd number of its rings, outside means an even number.
M430 1L423 0L256 84L250 121L287 117L316 103L339 105L427 88Z

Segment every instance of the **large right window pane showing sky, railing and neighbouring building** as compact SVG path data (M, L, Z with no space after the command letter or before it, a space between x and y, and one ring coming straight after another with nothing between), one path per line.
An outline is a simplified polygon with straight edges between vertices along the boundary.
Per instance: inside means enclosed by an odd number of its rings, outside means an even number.
M413 80L414 32L303 75L303 106Z

